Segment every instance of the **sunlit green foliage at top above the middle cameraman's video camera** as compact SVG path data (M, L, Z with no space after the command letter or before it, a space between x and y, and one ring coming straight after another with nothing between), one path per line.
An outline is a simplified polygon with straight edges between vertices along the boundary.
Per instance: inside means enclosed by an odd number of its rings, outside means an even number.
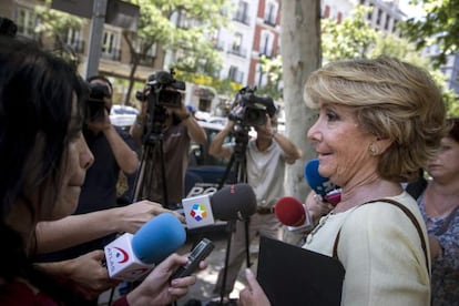
M175 53L174 68L188 72L213 74L222 59L212 43L212 35L227 19L221 14L225 0L131 0L141 8L139 29L125 35L145 54L157 43ZM171 21L178 20L178 27ZM134 50L133 50L134 51Z

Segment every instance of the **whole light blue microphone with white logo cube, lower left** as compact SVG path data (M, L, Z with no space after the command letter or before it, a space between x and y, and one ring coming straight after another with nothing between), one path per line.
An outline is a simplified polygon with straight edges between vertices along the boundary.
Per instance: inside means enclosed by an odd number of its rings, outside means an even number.
M162 213L142 225L135 235L125 233L104 247L109 276L133 282L181 247L186 241L183 224Z

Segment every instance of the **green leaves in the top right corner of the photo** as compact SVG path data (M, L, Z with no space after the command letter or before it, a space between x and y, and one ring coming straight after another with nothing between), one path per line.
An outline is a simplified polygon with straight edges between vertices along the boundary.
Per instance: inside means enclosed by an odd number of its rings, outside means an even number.
M426 16L400 23L401 32L418 50L438 44L440 53L434 57L434 64L440 67L447 55L459 51L459 0L412 0L411 3L422 4Z

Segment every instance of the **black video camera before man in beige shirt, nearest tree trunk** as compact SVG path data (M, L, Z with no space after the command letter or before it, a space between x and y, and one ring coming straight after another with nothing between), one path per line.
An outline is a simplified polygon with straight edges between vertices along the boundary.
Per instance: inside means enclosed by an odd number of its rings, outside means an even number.
M266 124L266 114L274 116L276 106L271 96L255 95L256 88L245 86L235 98L228 119L244 126Z

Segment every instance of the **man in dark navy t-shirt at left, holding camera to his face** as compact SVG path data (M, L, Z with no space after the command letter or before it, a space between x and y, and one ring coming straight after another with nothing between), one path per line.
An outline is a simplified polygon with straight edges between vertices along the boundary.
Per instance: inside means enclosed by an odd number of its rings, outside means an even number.
M88 82L90 99L83 135L94 155L94 163L86 172L75 215L116 207L116 182L120 171L132 174L139 167L139 157L131 135L110 122L113 94L111 82L102 75L92 76ZM76 258L94 249L103 249L115 235L116 233L113 233L71 248L44 254L39 259L54 262ZM75 295L68 296L67 303L98 305L98 299L86 300Z

